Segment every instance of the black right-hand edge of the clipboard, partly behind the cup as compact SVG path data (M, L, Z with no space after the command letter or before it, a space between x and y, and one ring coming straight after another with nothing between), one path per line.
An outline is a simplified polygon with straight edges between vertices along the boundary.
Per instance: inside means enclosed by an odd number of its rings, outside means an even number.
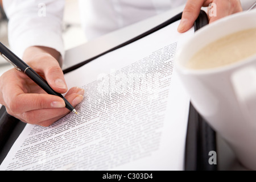
M208 16L200 12L194 28L199 30L208 24ZM190 104L187 138L185 145L185 170L187 171L216 171L217 164L209 164L209 152L216 151L216 133Z

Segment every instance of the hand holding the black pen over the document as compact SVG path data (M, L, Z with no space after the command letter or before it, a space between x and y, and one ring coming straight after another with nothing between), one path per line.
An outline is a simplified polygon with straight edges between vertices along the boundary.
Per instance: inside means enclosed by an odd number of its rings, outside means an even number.
M65 93L68 89L57 59L59 53L46 47L30 47L23 55L23 60L42 76L56 93ZM0 103L5 105L10 115L26 123L51 125L69 113L67 103L75 107L82 101L83 94L84 90L80 88L71 88L65 94L65 99L47 94L24 72L15 68L0 77Z

